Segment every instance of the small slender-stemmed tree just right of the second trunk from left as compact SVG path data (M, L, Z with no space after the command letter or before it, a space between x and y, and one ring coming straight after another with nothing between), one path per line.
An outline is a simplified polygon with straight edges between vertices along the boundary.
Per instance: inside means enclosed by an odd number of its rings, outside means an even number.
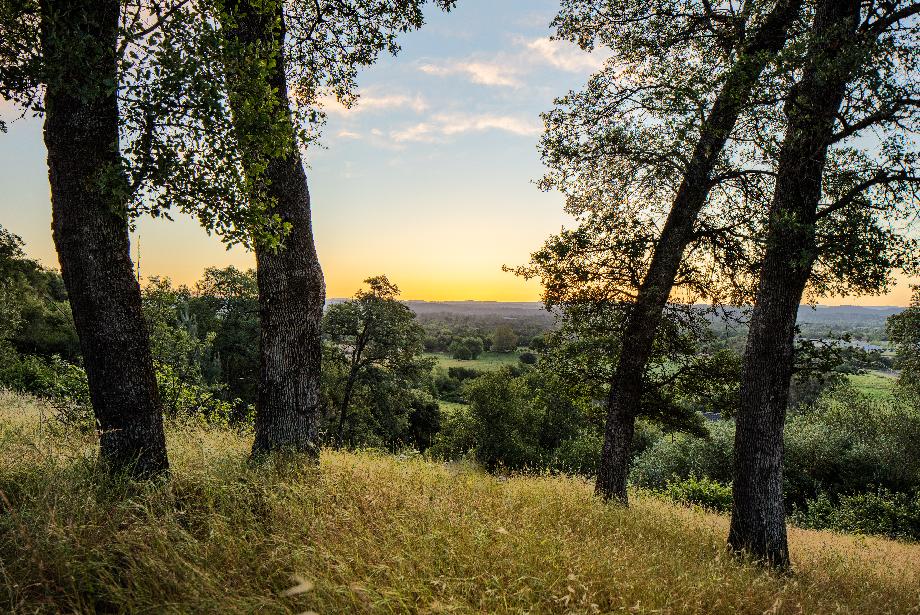
M402 403L396 391L415 388L431 372L434 362L422 357L425 331L415 314L396 297L399 288L386 276L365 280L368 290L354 299L332 305L323 319L323 333L344 354L348 364L338 402L336 441L342 445L356 387L390 390L391 403ZM383 396L376 396L378 408ZM392 412L387 414L392 415Z

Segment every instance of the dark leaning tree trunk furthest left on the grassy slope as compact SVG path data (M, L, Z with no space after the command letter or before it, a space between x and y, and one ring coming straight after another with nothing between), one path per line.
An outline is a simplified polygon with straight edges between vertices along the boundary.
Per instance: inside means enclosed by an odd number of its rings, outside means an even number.
M80 337L100 457L110 471L168 470L150 342L128 238L118 142L117 0L44 0L45 145L54 243Z

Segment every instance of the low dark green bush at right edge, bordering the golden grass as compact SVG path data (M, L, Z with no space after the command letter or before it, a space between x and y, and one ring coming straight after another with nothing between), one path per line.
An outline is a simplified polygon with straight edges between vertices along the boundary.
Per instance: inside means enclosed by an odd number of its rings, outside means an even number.
M812 529L920 540L920 492L910 496L879 490L839 498L822 493L804 510L796 510L792 521Z

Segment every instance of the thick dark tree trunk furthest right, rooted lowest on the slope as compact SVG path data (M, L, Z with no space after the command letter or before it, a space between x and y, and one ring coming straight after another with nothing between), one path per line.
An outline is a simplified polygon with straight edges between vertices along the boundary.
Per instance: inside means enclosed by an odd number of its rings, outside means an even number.
M852 74L851 62L843 56L859 24L859 6L859 0L822 0L816 10L806 69L787 102L789 123L744 353L728 542L735 551L780 568L789 565L783 426L795 323L818 256L821 179L834 118Z

